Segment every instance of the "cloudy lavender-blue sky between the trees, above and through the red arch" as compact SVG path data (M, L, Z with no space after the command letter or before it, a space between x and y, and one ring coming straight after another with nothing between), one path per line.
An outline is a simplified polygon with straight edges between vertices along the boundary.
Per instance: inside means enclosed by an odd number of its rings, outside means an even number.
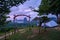
M13 15L20 15L20 14L24 14L24 15L30 15L31 19L33 20L36 16L38 16L37 12L34 12L31 10L30 7L38 10L39 5L41 4L41 0L27 0L26 2L24 2L23 4L18 4L17 7L13 6L10 8L10 13L9 16L10 18L8 18L7 20L13 20ZM24 19L24 17L26 16L19 16L16 19ZM27 18L27 20L29 20L29 18Z

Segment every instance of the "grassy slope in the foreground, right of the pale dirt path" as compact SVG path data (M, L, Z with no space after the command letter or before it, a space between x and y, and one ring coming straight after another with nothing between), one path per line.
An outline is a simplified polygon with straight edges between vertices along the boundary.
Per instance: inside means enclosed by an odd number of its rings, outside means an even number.
M18 32L15 35L10 36L7 40L60 40L60 31L55 29L50 29L48 31L38 33L38 28L32 28L28 31L28 28L25 28L25 32Z

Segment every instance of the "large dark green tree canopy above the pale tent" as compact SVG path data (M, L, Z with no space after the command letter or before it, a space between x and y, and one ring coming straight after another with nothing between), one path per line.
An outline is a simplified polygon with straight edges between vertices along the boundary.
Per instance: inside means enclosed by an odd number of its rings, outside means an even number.
M60 13L60 0L42 0L39 6L39 13Z

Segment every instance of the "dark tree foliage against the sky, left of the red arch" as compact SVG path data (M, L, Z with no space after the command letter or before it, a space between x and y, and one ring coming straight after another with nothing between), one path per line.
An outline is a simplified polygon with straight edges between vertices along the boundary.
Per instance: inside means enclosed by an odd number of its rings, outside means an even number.
M10 12L9 8L23 4L26 0L0 0L0 26L6 23L6 14Z

